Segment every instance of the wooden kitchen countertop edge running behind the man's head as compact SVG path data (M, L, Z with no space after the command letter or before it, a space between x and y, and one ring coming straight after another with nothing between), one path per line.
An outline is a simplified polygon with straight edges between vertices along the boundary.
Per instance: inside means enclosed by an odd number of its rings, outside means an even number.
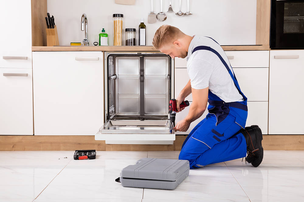
M270 50L263 45L224 45L224 51ZM153 46L32 46L32 51L157 51Z

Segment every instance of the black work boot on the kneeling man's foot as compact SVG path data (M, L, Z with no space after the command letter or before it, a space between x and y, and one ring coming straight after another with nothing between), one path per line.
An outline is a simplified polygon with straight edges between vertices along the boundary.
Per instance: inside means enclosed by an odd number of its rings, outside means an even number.
M247 144L247 157L246 161L251 163L254 167L258 167L264 156L264 150L262 147L262 131L257 125L245 127L240 132L244 135Z

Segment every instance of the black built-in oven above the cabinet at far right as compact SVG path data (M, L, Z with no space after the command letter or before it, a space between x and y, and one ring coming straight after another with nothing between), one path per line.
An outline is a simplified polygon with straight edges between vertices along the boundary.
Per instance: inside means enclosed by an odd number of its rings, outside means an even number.
M304 0L271 0L270 48L304 48Z

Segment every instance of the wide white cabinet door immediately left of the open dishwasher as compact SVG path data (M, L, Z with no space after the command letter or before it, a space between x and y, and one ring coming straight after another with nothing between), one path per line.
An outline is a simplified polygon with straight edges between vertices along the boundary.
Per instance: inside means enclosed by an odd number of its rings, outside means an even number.
M33 52L35 135L95 135L103 91L102 52Z

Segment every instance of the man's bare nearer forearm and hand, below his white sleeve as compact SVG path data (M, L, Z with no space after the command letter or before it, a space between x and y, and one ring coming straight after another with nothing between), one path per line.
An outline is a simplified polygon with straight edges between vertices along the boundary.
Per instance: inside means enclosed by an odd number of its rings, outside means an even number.
M183 120L179 121L174 127L175 131L187 131L191 122L195 121L205 112L208 102L208 90L192 88L192 104L190 105L189 113Z

